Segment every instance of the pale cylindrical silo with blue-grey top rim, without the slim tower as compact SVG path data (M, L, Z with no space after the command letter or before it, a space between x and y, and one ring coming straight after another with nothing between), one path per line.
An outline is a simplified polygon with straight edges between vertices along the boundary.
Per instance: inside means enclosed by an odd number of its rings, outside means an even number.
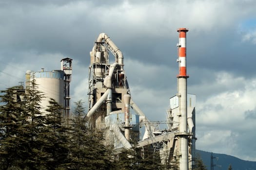
M27 72L28 73L28 72ZM45 95L41 106L43 110L49 105L50 98L54 99L59 105L64 103L64 72L62 70L30 72L30 80L36 80L38 90Z

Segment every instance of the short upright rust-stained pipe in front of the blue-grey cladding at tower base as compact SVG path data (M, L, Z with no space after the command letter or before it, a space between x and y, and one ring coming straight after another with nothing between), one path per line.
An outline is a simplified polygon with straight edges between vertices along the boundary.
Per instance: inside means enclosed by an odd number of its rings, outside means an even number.
M130 101L131 96L129 94L123 95L124 101L124 136L129 141L130 140Z

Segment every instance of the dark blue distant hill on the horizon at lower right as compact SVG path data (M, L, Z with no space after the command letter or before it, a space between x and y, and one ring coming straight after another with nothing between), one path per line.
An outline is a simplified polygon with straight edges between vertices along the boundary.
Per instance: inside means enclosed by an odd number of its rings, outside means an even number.
M211 170L211 153L200 150L197 150L196 152L201 156L204 165L207 166L207 170ZM214 164L218 165L214 167L214 170L228 170L230 164L232 166L232 170L256 170L256 162L245 161L227 154L213 154L215 157L218 157L218 160L214 159Z

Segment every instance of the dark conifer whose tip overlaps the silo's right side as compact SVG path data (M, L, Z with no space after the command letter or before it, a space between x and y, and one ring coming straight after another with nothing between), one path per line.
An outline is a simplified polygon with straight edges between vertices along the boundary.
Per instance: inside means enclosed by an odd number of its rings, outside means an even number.
M44 140L43 151L47 153L47 169L66 169L69 166L68 128L63 125L63 108L54 99L50 99L46 113L46 131L40 137Z

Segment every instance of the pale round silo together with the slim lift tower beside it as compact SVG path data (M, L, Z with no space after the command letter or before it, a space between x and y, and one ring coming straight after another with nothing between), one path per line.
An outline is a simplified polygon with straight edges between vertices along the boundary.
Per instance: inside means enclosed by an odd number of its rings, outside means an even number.
M71 116L70 111L70 82L72 75L72 59L63 58L60 61L60 69L45 71L26 71L25 89L29 89L31 80L36 80L38 90L44 94L41 101L42 112L49 105L50 98L59 103L63 109L63 119L68 121Z

